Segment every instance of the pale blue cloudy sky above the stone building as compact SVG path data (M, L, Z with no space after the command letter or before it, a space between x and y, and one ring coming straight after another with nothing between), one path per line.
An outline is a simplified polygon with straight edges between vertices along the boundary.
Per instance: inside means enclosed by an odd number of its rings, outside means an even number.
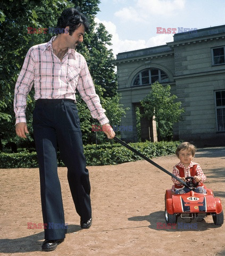
M157 27L225 25L224 0L102 0L99 9L96 21L112 34L115 55L173 41L173 34L157 34Z

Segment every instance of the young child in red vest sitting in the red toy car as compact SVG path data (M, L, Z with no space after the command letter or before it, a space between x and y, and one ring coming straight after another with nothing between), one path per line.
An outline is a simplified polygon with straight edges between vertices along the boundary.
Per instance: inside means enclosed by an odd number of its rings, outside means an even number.
M189 142L181 143L176 150L176 155L180 159L180 163L173 167L173 174L178 178L185 180L186 177L193 176L194 182L199 182L197 188L195 188L196 193L205 194L203 182L206 180L205 174L203 173L199 164L192 162L196 152L196 147ZM189 188L185 187L178 180L172 178L175 186L175 194L185 194L190 191Z

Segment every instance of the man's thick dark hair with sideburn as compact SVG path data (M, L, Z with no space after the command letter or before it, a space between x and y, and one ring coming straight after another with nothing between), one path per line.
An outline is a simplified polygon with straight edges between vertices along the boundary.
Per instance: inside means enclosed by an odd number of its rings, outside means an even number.
M84 25L85 30L88 30L88 19L77 9L68 8L61 13L56 28L65 28L69 26L69 35L71 36L80 25Z

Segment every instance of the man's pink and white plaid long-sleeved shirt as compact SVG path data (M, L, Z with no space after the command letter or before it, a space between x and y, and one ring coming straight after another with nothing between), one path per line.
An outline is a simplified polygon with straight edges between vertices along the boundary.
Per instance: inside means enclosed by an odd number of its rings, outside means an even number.
M72 99L76 102L76 89L86 102L90 114L99 123L106 124L99 97L95 92L85 58L74 49L68 49L62 62L53 53L52 39L32 46L24 60L15 84L14 111L16 123L26 122L27 95L32 86L37 99Z

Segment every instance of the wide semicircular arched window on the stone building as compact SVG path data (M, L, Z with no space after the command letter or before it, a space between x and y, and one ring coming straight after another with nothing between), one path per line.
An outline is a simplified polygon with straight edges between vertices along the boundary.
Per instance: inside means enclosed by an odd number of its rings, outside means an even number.
M151 68L140 71L134 78L132 86L153 84L155 82L166 83L169 82L168 75L161 69Z

